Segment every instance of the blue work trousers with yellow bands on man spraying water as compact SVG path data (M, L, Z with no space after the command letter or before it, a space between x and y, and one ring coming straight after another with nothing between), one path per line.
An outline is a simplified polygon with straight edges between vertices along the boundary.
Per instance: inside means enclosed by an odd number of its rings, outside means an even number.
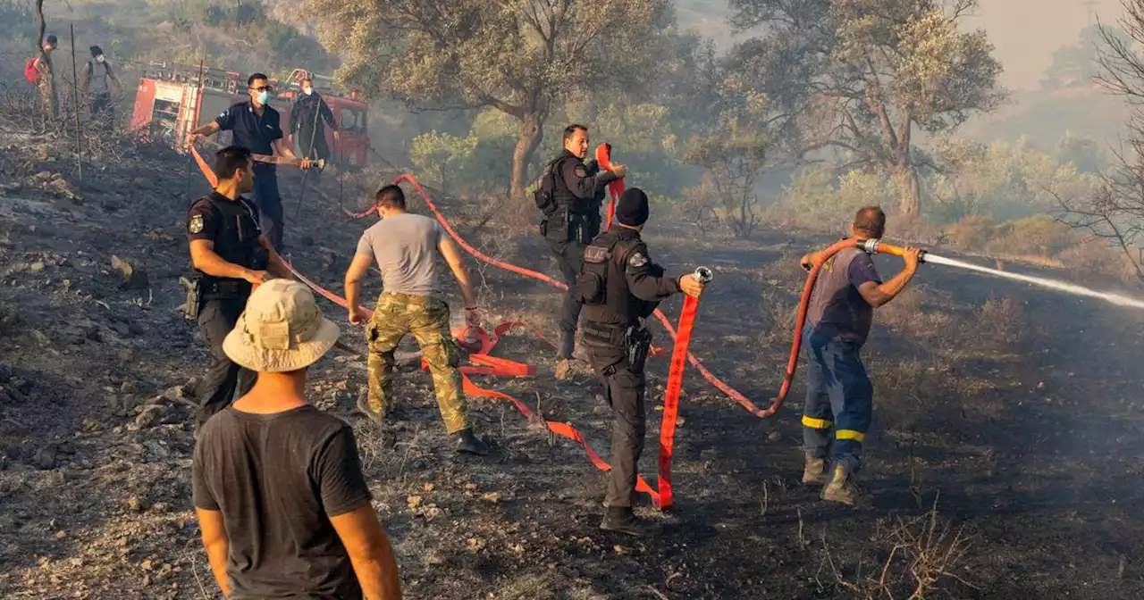
M802 344L807 349L803 448L815 458L827 458L833 441L834 464L855 473L861 467L861 443L874 410L874 386L858 355L861 346L810 325L802 330Z

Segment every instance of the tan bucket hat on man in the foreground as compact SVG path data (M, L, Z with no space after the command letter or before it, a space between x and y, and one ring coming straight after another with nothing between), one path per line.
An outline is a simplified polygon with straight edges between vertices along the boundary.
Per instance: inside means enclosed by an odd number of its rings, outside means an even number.
M321 315L309 288L271 279L251 294L222 350L251 370L285 373L317 362L339 335L337 325Z

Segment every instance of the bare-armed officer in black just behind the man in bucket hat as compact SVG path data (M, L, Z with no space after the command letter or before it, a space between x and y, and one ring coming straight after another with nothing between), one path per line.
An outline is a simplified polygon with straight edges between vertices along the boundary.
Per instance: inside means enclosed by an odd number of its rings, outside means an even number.
M214 193L196 200L186 215L191 263L199 274L190 285L186 314L198 319L202 338L210 346L210 366L194 389L200 410L196 429L222 410L235 397L254 385L255 374L233 363L222 351L222 341L235 328L246 307L252 285L271 274L291 277L259 229L259 211L239 194L251 191L254 173L251 151L229 146L215 153ZM268 272L269 270L269 272Z

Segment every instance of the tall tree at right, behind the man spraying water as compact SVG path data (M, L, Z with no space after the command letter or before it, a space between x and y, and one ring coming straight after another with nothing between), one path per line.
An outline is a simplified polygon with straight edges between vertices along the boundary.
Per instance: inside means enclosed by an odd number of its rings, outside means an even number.
M738 29L765 37L736 49L784 106L805 106L805 149L834 147L897 185L903 215L920 215L914 130L937 134L998 106L1001 65L984 31L962 32L976 0L731 0ZM817 125L817 128L809 126Z

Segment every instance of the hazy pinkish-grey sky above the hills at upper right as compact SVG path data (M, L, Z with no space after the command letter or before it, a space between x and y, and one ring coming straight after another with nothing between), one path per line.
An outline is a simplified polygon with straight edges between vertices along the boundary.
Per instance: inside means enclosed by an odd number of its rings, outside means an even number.
M1077 42L1090 13L1104 24L1115 24L1122 14L1120 0L979 0L976 15L966 25L984 27L996 47L994 56L1004 66L1002 85L1033 89L1049 66L1052 51Z

